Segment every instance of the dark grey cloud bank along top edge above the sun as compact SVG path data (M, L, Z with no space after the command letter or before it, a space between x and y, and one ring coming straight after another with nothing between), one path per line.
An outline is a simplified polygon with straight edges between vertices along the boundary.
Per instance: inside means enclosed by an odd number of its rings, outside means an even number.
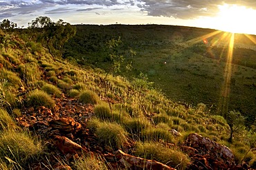
M199 16L212 16L218 5L223 3L237 4L256 9L255 0L140 0L137 6L151 16L176 17L180 19L194 19Z

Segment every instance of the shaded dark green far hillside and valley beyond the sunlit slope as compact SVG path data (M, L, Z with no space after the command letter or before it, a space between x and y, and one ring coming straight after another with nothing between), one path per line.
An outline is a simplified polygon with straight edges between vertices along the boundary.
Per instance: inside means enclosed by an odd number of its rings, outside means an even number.
M125 56L125 49L136 52L131 59L133 70L121 73L129 80L143 72L171 100L188 105L204 103L220 115L235 109L249 124L255 120L255 36L235 34L229 70L231 34L172 25L77 25L65 56L104 70L108 61L105 43L119 36ZM223 96L227 87L228 97ZM228 105L223 100L228 100Z

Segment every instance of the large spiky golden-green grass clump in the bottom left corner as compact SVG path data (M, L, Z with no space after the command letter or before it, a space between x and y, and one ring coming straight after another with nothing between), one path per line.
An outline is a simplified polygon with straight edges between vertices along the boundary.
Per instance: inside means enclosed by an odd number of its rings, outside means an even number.
M0 159L9 158L16 164L24 165L39 153L42 153L41 143L33 140L26 131L8 130L0 134Z

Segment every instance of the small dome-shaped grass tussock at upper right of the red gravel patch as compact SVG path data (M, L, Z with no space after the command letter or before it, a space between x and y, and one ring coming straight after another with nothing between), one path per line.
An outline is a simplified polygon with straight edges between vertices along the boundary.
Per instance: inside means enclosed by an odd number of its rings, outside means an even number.
M91 103L95 105L100 102L100 97L95 92L91 90L86 90L84 92L81 92L79 100L84 104Z

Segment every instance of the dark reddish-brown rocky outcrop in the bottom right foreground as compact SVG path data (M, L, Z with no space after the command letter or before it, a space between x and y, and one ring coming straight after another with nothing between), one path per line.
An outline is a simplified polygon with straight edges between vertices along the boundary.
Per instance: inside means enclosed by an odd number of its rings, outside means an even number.
M209 138L199 134L190 134L185 145L190 149L192 160L188 169L243 169L235 165L235 156L228 147ZM187 147L185 148L188 149Z

